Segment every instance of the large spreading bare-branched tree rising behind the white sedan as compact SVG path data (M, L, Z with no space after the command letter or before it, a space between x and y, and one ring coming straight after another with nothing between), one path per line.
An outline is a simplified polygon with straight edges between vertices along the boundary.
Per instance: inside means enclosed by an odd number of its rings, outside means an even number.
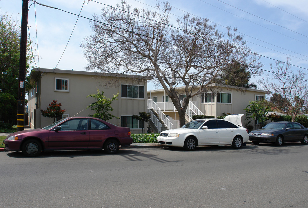
M173 27L168 2L162 9L156 6L156 11L132 9L123 1L116 8L103 8L91 22L94 34L80 46L89 61L87 70L153 77L171 98L184 125L189 99L209 91L220 71L237 61L257 73L260 57L245 46L237 29L228 28L224 35L208 19L188 14ZM177 91L177 86L184 90ZM180 94L186 95L182 104Z

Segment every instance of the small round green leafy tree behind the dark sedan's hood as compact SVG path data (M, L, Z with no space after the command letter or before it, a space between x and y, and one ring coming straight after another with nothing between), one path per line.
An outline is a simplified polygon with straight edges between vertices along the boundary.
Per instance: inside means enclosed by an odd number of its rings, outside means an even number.
M252 119L263 123L264 121L268 120L266 114L270 111L270 103L267 100L250 101L249 105L247 105L244 110L246 111L245 120L249 120L247 124L249 124Z

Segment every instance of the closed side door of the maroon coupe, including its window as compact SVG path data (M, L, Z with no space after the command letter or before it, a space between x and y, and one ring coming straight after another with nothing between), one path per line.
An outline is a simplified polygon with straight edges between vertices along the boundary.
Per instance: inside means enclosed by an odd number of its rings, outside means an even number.
M87 119L71 119L60 125L61 130L51 130L48 148L78 149L87 148L90 141Z

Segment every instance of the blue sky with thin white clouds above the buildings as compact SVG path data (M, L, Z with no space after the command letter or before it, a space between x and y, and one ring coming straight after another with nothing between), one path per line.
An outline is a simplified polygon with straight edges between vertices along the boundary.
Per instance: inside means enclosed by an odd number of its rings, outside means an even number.
M37 2L73 14L79 14L82 8L80 15L92 18L93 14L101 13L102 7L116 6L120 0L95 0L95 2L85 0L84 5L83 0L37 0ZM153 10L157 3L163 3L160 0L127 0L127 2L132 7L150 10ZM217 25L218 31L223 33L226 33L227 26L237 28L246 45L261 55L259 61L264 64L261 68L263 70L269 70L269 65L275 65L276 61L286 62L286 57L291 58L294 72L299 69L306 72L308 70L307 0L171 0L168 2L172 6L171 22L174 26L176 18L189 13L208 18L212 24ZM83 49L79 45L85 37L93 34L89 20L79 17L76 23L76 15L33 3L29 1L28 13L30 30L28 37L31 38L32 47L35 49L33 52L35 60L31 65L40 68L85 71L87 60L83 57ZM0 7L1 15L6 12L21 23L22 0L0 0ZM268 72L265 71L261 77L266 77L266 74ZM252 77L251 81L256 82L261 77ZM148 90L152 89L156 88L149 83Z

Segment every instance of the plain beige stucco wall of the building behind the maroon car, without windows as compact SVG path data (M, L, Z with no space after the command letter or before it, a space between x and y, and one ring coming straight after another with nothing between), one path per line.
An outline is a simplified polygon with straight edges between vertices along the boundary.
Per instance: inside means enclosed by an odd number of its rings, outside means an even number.
M69 80L68 92L55 91L55 78L66 78ZM90 108L87 109L89 104L95 102L95 98L87 97L91 94L97 93L97 88L100 93L103 91L104 96L107 98L112 98L115 94L119 92L118 100L114 100L111 107L113 111L110 112L112 115L119 117L112 118L108 122L121 126L121 116L123 115L136 115L141 111L146 111L147 109L147 86L146 81L142 80L141 83L134 83L134 80L130 78L120 78L116 81L112 80L114 77L100 77L95 75L85 75L85 74L74 74L74 73L43 73L41 77L38 77L35 81L41 83L39 86L39 93L35 95L29 94L29 111L33 112L35 108L40 108L45 110L48 104L52 100L57 100L57 103L62 104L62 109L65 109L64 114L67 116L88 116L89 114L94 114ZM106 83L112 82L112 84ZM144 86L144 99L138 98L121 98L121 84L129 85L142 85ZM40 101L40 102L37 102ZM35 103L38 105L35 106ZM33 113L32 113L33 114ZM29 113L31 115L31 113ZM31 117L31 116L29 116ZM31 117L31 128L34 128L33 118ZM36 125L35 128L42 128L52 123L52 118L46 118L40 115L40 125ZM31 121L31 120L30 120ZM141 133L141 129L131 129L132 133Z

